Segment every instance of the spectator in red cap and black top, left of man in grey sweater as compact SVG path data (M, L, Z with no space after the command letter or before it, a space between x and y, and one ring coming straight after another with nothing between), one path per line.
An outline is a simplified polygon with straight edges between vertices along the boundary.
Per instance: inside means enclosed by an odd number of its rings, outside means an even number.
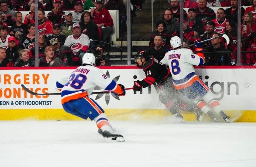
M61 0L54 0L54 9L47 14L47 19L51 21L53 25L60 24L65 20L65 12L61 10L61 3Z

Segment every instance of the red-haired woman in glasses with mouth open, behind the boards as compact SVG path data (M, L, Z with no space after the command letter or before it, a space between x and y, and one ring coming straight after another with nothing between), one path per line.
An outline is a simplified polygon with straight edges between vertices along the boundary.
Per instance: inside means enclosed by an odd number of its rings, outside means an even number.
M55 50L53 46L47 46L44 50L45 57L39 59L39 67L62 67L66 66L60 58L54 54Z

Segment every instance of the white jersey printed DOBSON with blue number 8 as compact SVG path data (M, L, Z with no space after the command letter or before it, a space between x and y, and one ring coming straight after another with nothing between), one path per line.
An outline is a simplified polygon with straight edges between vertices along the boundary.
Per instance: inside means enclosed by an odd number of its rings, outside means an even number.
M204 64L204 55L200 54L193 54L190 49L185 48L171 50L165 54L161 63L169 66L175 89L186 88L198 79L193 65Z

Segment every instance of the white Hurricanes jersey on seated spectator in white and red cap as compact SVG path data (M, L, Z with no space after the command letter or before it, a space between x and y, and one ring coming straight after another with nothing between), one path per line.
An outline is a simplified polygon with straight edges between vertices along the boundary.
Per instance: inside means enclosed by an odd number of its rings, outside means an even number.
M75 38L74 35L69 35L64 45L70 47L74 52L78 52L81 49L86 51L90 46L90 39L85 34L81 34L78 38Z

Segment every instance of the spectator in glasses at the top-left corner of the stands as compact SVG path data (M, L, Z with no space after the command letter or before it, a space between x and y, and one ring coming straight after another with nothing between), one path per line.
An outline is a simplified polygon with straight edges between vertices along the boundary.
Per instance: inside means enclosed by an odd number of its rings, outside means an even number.
M15 11L10 10L7 5L7 1L0 1L0 14L2 15L3 22L7 22L9 26L14 25L15 22Z

